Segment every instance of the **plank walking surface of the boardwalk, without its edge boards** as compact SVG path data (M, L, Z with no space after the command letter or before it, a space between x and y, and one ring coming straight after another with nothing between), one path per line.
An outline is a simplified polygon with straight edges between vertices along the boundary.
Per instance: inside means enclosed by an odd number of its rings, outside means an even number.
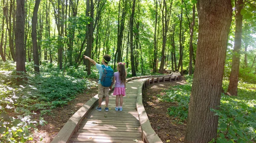
M145 79L126 83L126 96L123 97L123 110L116 111L116 96L109 96L109 111L105 111L105 100L102 111L93 109L85 116L78 132L73 134L70 143L134 143L141 139L141 127L136 108L138 87ZM119 104L120 105L120 104Z

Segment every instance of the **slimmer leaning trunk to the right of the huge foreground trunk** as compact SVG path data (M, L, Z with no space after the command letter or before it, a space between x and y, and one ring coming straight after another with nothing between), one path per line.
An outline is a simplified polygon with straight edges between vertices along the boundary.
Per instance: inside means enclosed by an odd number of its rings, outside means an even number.
M230 83L227 88L227 92L231 95L237 96L239 65L240 65L240 49L242 41L242 23L243 16L241 15L241 9L243 9L243 0L236 1L236 31L235 31L235 43L232 56L232 67L230 73Z

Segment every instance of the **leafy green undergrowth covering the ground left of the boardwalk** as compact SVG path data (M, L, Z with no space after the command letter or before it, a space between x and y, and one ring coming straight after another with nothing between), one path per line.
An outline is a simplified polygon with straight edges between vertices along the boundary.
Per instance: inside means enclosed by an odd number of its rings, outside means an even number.
M82 72L84 66L73 68L73 72L65 76L55 63L42 62L39 75L34 74L33 66L32 62L26 63L27 73L20 75L12 71L15 69L12 62L0 66L0 141L24 143L32 140L32 128L46 123L43 118L32 120L32 114L40 111L41 115L49 114L52 108L64 106L76 94L93 86L85 79L88 76ZM17 83L17 78L27 80Z

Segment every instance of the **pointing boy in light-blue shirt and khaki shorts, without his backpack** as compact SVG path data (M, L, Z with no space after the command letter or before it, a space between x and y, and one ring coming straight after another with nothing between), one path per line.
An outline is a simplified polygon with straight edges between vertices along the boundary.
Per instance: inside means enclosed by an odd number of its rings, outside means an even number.
M90 60L91 63L93 63L96 68L99 70L99 79L101 79L102 77L102 74L103 74L103 69L102 69L102 65L96 63L93 59L91 59L90 57L87 57L84 55L84 58L85 59L88 59ZM102 59L102 64L105 65L106 68L108 68L108 63L110 62L111 60L111 57L109 54L105 54L103 56L103 59ZM105 111L108 111L108 101L109 101L109 95L108 95L108 92L109 92L109 87L104 87L101 85L100 83L100 80L98 82L98 97L99 97L99 106L96 107L96 110L98 111L101 111L101 104L102 104L102 98L105 96L105 100L106 100L106 107L105 107Z

